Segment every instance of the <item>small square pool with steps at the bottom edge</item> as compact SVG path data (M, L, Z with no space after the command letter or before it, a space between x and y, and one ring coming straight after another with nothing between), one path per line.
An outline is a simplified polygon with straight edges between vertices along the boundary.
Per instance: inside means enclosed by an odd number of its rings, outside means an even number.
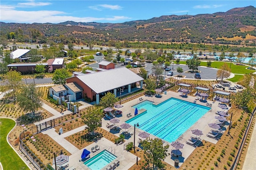
M100 170L116 158L117 157L114 154L108 152L107 150L103 150L102 152L84 162L84 164L91 170Z

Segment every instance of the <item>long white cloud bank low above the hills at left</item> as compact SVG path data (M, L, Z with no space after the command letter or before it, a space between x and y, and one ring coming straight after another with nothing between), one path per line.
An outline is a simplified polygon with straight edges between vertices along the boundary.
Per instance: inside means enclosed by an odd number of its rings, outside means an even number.
M74 17L64 15L65 12L62 11L18 11L10 10L9 8L4 8L1 10L1 21L5 22L17 22L17 23L60 23L65 21L74 22L97 22L97 21L121 21L131 19L126 16L113 16L107 18L96 18L96 17Z

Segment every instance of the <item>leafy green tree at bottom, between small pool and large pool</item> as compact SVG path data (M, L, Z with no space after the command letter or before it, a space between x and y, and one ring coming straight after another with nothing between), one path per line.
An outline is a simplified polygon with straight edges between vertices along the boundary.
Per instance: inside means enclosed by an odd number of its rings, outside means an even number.
M153 164L153 170L155 166L157 169L164 169L166 165L162 160L167 156L169 145L163 146L163 142L159 138L147 138L142 141L141 145L144 150L144 159L148 165Z

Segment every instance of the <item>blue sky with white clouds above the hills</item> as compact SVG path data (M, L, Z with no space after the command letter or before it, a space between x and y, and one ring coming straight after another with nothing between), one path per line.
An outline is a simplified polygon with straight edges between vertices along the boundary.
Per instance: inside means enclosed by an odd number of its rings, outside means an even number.
M122 23L163 15L196 15L256 6L255 0L1 0L0 21Z

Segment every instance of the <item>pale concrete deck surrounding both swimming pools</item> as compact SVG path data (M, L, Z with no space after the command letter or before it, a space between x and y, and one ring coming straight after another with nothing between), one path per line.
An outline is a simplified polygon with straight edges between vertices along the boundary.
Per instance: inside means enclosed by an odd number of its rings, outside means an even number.
M128 101L127 103L124 103L122 106L122 108L120 108L119 110L122 111L122 116L118 117L118 119L120 119L120 122L117 123L117 126L120 126L122 123L124 123L125 121L127 121L128 119L134 117L134 108L132 108L132 106L141 103L145 100L148 101L153 101L155 104L161 103L162 101L165 101L167 99L169 99L170 97L174 97L176 99L181 99L184 101L189 101L189 102L193 102L195 97L193 96L188 96L186 98L179 96L179 93L176 92L172 92L172 91L167 91L167 94L164 95L162 94L161 98L156 98L156 97L146 97L143 96L143 100L140 101L139 98ZM221 109L218 107L218 103L219 102L213 102L208 100L208 103L212 103L212 107L210 109L210 111L208 111L204 116L202 116L194 125L192 125L192 127L190 127L186 132L184 132L184 134L182 135L182 138L178 139L182 144L184 144L183 149L180 149L182 151L182 157L184 157L184 161L188 158L188 156L194 151L194 147L190 146L188 144L186 144L186 141L188 139L190 139L191 136L196 137L194 134L192 134L193 129L199 129L202 130L203 135L200 137L202 139L203 142L212 142L214 144L216 144L218 142L218 140L215 140L213 138L209 138L208 136L206 136L206 134L208 134L208 132L210 132L210 130L212 128L210 128L208 126L208 123L215 123L217 121L217 119L215 119L215 112L216 111L220 111ZM206 103L200 102L200 101L196 101L196 104L198 105L204 105L206 106ZM229 107L230 108L230 107ZM143 111L145 111L145 109L141 109L138 111L138 114L142 113ZM126 115L128 113L132 113L132 117L126 117ZM109 120L105 120L104 118L102 119L102 128L109 131L110 129L106 127L107 123L110 123ZM81 131L81 129L83 130L85 126L80 127L80 128L76 128L74 130L72 130L72 134ZM225 128L228 128L228 125L225 126ZM134 132L134 127L130 127L129 132ZM135 130L135 146L138 146L138 140L142 139L140 136L138 136L139 132L142 131L139 128L136 128ZM120 130L120 133L122 132L122 130ZM69 167L74 166L77 170L80 169L88 169L89 168L83 164L83 162L79 162L79 160L81 159L81 155L82 155L82 150L78 150L76 147L74 148L73 145L68 144L69 142L66 141L66 139L64 139L64 137L66 137L67 135L70 135L70 132L66 132L64 134L58 135L56 132L54 132L54 128L52 130L46 130L45 132L43 132L44 134L48 134L50 137L52 137L54 140L59 141L59 144L62 145L66 150L68 150L70 153L72 153L71 156L69 156ZM119 137L120 133L116 133L115 135ZM156 136L153 136L150 134L150 138L156 138ZM128 138L125 139L126 141L124 142L124 144L127 144L128 142L134 142L134 134ZM99 141L94 142L92 144L90 144L89 146L85 147L85 149L91 151L91 148L95 145L100 146L100 150L91 153L90 157L92 158L93 156L95 156L96 154L100 153L102 150L108 150L114 155L117 156L116 160L120 161L120 166L118 166L116 168L116 170L123 170L123 169L129 169L130 167L132 167L134 164L136 164L136 156L130 152L127 152L126 150L124 150L124 144L120 144L118 146L116 146L116 144L114 144L113 142L107 140L106 138L102 138ZM169 149L168 149L168 153L171 153L171 150L174 149L171 145L171 143L165 141L165 144L169 144ZM140 160L140 158L138 158L138 160ZM115 160L114 160L115 161ZM114 162L113 161L113 162ZM164 160L166 163L174 166L174 160L172 160L170 158L170 156L167 156L167 158ZM111 164L111 163L110 163ZM179 163L179 166L182 164L182 162ZM107 166L106 166L107 167ZM104 167L103 169L105 169L106 167Z

